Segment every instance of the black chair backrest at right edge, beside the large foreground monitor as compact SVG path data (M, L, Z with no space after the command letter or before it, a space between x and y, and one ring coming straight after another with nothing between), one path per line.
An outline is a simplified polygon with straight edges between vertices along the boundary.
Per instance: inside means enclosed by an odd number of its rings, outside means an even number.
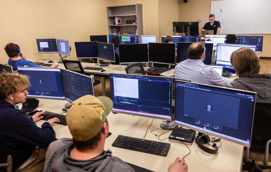
M265 152L265 144L271 139L270 124L271 103L256 102L250 151Z

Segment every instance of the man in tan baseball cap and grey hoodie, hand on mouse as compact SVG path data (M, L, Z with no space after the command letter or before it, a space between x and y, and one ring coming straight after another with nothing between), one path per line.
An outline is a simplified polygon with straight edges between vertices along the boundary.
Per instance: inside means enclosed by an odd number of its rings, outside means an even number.
M86 95L75 100L66 114L73 138L49 145L43 171L135 172L126 162L112 156L110 150L104 151L109 131L107 115L112 107L111 99L105 96ZM169 166L168 172L187 171L184 160L179 160Z

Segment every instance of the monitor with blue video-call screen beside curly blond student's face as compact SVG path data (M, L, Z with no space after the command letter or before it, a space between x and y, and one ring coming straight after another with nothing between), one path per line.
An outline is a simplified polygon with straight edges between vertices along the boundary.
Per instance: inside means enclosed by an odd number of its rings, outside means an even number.
M18 73L29 77L27 97L65 100L60 68L18 67Z

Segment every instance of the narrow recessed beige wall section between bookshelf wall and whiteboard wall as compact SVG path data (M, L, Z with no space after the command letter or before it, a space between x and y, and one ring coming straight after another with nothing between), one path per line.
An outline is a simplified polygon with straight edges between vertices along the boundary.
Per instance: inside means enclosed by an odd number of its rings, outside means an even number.
M178 0L158 0L159 42L162 35L173 35L172 22L179 21Z

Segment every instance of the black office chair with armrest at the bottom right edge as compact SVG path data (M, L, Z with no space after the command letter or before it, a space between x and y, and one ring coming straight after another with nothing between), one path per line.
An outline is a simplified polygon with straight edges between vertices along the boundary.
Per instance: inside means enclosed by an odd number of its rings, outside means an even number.
M244 151L244 165L242 170L249 172L263 172L271 169L268 162L271 162L271 104L256 102L251 147ZM251 162L248 160L252 159ZM263 164L256 164L255 161L262 161Z

